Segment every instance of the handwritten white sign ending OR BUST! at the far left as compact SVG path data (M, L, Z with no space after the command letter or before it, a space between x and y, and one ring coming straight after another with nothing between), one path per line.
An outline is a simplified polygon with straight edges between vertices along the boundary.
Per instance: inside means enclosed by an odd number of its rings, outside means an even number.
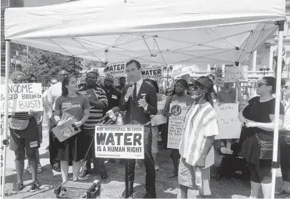
M8 89L8 112L35 112L43 110L42 84L1 85L1 113L5 112L5 94Z

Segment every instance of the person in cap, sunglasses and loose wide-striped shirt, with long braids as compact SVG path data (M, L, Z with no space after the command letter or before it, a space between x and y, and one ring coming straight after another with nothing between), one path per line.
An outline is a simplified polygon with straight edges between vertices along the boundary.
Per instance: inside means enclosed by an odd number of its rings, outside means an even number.
M180 140L180 163L178 183L181 198L187 198L188 187L194 187L196 173L201 171L201 197L210 196L210 166L214 164L214 137L219 135L216 112L210 94L213 83L209 78L194 82L194 104L185 116L185 126Z

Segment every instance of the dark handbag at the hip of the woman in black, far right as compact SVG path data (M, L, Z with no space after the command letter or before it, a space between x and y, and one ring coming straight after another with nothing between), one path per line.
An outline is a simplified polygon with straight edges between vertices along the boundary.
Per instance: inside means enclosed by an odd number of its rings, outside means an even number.
M259 159L272 159L273 158L273 144L272 140L263 140L263 133L255 133L255 139L259 145Z

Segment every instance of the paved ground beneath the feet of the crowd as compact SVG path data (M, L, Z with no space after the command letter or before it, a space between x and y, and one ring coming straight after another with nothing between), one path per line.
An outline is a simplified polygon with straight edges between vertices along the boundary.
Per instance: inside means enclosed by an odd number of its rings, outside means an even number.
M26 186L17 194L12 194L11 189L13 183L16 182L15 171L15 155L11 150L7 150L6 159L6 197L7 198L56 198L53 189L62 183L61 174L52 171L49 164L49 136L48 132L43 132L43 142L40 147L40 162L42 164L42 173L38 175L40 181L40 190L30 193L29 188L31 184L31 175L24 173L24 185ZM169 179L168 176L173 171L173 164L170 154L166 150L160 150L157 155L157 163L160 166L160 171L156 172L156 192L157 198L180 198L180 188L178 178ZM25 161L27 166L27 160ZM101 180L101 178L92 173L83 182L93 182L94 180L101 181L101 198L121 198L124 196L124 165L117 163L105 162L106 170L108 171L108 179ZM135 171L135 198L143 198L145 194L145 168L141 167ZM71 166L69 168L69 175L72 178ZM276 187L281 186L281 173L278 170L278 178ZM248 198L250 196L250 182L245 182L237 178L221 178L221 181L211 179L210 188L212 196L210 198ZM198 196L198 189L194 187L189 189L189 198L196 198ZM259 198L262 198L262 190Z

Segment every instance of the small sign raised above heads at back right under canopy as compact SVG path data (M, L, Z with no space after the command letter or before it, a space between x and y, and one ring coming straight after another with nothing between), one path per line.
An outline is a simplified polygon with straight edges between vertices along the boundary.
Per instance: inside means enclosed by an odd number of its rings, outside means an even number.
M248 67L225 67L225 83L248 81Z

